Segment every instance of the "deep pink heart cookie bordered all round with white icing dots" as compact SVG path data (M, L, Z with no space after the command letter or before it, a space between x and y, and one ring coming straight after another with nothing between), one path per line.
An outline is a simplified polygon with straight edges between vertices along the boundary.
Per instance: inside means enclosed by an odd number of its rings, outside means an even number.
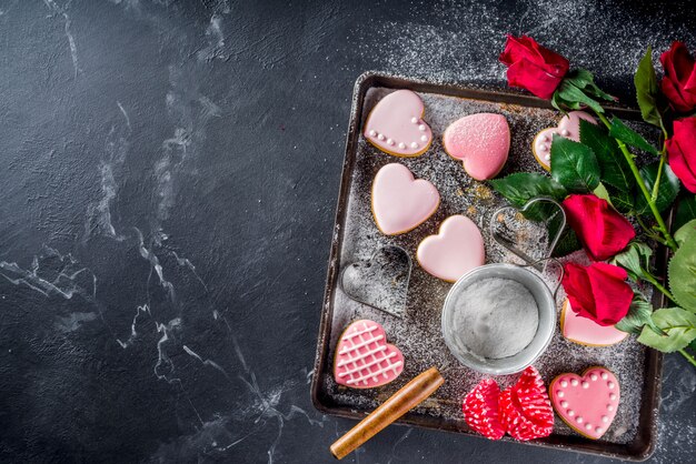
M616 375L605 367L589 367L583 376L560 374L548 390L560 418L591 440L601 438L609 428L620 401Z

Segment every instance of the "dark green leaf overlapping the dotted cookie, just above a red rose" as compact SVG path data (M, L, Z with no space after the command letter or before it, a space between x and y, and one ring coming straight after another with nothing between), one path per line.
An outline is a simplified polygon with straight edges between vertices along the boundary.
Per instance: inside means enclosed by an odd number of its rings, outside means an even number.
M589 193L599 185L597 158L589 147L555 134L551 178L569 192Z

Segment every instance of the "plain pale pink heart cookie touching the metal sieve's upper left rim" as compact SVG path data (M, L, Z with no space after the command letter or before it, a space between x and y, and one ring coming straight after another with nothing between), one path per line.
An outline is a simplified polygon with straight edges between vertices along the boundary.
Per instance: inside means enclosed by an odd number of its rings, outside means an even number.
M484 238L469 218L451 215L443 221L437 235L427 236L420 242L416 258L429 274L456 282L474 268L484 264Z

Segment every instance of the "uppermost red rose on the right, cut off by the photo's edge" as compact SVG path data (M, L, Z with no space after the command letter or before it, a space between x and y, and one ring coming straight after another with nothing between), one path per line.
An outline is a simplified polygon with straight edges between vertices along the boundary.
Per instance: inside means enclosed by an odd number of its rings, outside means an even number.
M665 69L660 83L663 93L672 107L683 113L696 108L696 67L694 58L683 42L674 42L669 50L659 57Z

